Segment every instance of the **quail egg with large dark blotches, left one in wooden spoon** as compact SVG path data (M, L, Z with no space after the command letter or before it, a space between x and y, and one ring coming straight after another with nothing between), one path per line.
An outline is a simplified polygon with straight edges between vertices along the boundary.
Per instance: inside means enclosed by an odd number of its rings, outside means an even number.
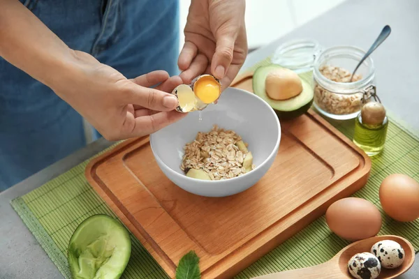
M348 270L354 278L375 279L380 275L381 264L372 253L361 252L349 259Z

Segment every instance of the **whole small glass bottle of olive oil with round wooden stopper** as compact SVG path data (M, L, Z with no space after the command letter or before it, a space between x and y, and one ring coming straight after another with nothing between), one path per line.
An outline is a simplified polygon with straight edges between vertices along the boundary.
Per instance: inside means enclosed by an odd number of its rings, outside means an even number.
M353 143L360 147L368 156L381 153L387 136L388 117L381 103L366 103L355 118Z

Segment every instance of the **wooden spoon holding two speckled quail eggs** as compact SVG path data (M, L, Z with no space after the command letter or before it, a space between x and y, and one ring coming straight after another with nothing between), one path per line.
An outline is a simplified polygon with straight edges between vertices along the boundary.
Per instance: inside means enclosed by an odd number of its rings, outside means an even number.
M377 279L390 279L396 278L405 273L411 268L413 262L415 262L415 250L411 243L400 236L385 235L385 236L374 236L369 239L362 239L354 243L349 244L342 250L340 250L335 257L332 257L328 262L319 264L317 266L310 266L305 269L294 269L289 271L282 271L278 273L267 274L265 276L258 276L260 279L338 279L338 278L353 278L351 273L348 271L349 259L358 252L370 252L371 247L374 243L382 240L392 240L399 243L405 253L404 262L402 266L396 269L385 269L381 268L381 273Z

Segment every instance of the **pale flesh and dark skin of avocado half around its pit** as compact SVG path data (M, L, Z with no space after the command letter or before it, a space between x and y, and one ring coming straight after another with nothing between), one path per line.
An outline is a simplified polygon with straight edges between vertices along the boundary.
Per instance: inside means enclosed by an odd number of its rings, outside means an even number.
M302 82L302 92L300 94L288 100L274 100L270 98L265 91L265 80L272 70L277 70L278 68L284 67L270 64L257 68L253 73L253 92L260 98L263 98L274 109L279 119L293 119L309 110L314 99L314 89L307 80L299 75Z

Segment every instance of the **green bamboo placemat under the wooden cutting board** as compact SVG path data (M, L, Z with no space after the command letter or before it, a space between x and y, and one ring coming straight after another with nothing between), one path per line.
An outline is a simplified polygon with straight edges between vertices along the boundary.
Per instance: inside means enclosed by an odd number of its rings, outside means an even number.
M267 62L268 60L262 61L257 66ZM353 121L330 122L341 133L352 137ZM71 278L66 248L78 224L97 213L117 218L84 179L84 167L88 161L11 202L64 278ZM378 188L385 176L395 172L408 174L419 180L419 137L391 117L385 150L372 159L370 179L354 196L373 202L383 214L378 200ZM379 234L404 236L411 241L416 252L419 250L419 220L398 223L383 214L383 227ZM131 240L131 259L122 278L168 278L161 266L132 235ZM321 264L347 244L348 241L330 232L323 216L244 269L236 278L251 278Z

